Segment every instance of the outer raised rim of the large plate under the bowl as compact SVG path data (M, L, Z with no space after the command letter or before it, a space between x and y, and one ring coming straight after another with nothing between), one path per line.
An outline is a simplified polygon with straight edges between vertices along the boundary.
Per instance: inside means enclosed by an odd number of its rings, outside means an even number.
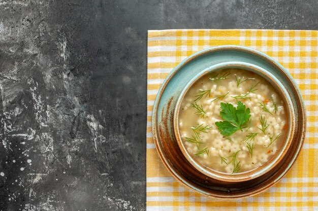
M218 194L218 193L213 193L211 191L202 189L201 186L194 184L190 180L185 179L182 175L180 175L177 170L175 170L174 166L171 165L171 163L168 162L167 160L167 154L165 150L162 148L162 144L160 141L160 138L158 137L158 122L157 122L157 115L158 115L158 106L162 98L163 91L166 89L169 81L176 75L176 73L187 63L189 63L192 60L195 60L197 57L200 57L201 55L209 54L209 53L216 53L216 52L222 52L222 51L238 51L242 53L247 53L249 55L259 57L261 60L265 61L267 64L270 64L273 66L277 71L281 71L281 74L285 79L290 83L291 87L293 88L293 92L295 94L295 98L297 100L297 103L299 105L299 112L298 114L301 115L301 123L302 125L299 127L301 130L300 132L300 137L297 140L298 144L293 151L293 157L289 160L289 165L286 166L283 170L280 171L279 175L274 176L274 178L267 183L266 185L263 185L261 187L258 187L255 190L249 190L243 193L236 193L234 195L228 195L228 194ZM278 183L290 170L291 167L294 165L296 159L299 156L299 153L304 145L304 140L305 140L305 134L306 134L306 124L307 123L307 117L306 117L306 110L304 107L304 100L302 98L301 92L299 87L297 86L297 83L295 79L291 76L291 74L276 60L271 58L270 56L248 48L248 47L243 47L243 46L236 46L236 45L224 45L224 46L215 46L215 47L210 47L201 51L198 51L187 58L185 58L183 61L181 61L166 77L166 79L162 82L162 86L158 89L157 96L153 102L153 109L152 109L152 117L151 117L151 128L152 128L152 134L153 134L153 142L156 148L156 151L158 153L158 156L161 158L163 161L164 166L167 168L167 170L171 173L171 175L180 183L185 185L186 187L197 191L205 196L209 197L214 197L214 198L219 198L219 199L229 199L229 198L244 198L252 195L259 194L260 192L263 192L267 190L268 188L272 187L276 183ZM270 179L270 178L269 178Z

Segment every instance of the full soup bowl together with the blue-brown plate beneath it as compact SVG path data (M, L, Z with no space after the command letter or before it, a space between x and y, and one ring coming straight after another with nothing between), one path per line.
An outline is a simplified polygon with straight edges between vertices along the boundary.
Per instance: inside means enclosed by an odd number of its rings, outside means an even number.
M242 198L291 170L306 113L296 81L273 58L241 46L213 47L185 58L162 82L151 135L180 183L206 196Z

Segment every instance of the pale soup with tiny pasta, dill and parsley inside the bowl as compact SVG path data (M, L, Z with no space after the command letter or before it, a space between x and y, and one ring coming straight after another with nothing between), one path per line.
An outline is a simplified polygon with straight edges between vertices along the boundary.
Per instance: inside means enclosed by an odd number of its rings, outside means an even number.
M262 76L223 69L200 78L185 94L179 132L193 158L212 170L236 174L264 165L288 132L288 112Z

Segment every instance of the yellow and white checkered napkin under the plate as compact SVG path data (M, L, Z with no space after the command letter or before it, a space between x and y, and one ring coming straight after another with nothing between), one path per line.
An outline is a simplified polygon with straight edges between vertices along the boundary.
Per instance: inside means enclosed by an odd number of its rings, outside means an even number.
M317 31L148 31L147 210L318 210L317 41ZM308 121L304 147L287 176L259 195L236 200L209 198L175 180L158 157L151 132L153 102L168 74L187 56L221 45L256 49L287 68L300 87Z

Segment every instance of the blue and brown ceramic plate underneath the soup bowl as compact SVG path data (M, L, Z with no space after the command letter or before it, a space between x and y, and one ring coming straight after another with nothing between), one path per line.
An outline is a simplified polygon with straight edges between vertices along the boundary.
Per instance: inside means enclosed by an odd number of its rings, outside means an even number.
M291 112L294 114L294 119L291 124L294 133L291 134L292 140L288 150L275 167L264 172L260 177L252 177L250 180L227 182L203 174L184 156L174 133L174 111L180 94L200 72L224 63L247 64L266 70L269 75L274 76L285 95L288 95L290 108L293 109ZM289 72L269 56L239 46L206 49L182 61L164 81L154 102L152 113L154 143L171 174L189 188L217 198L246 197L260 193L277 183L290 170L301 150L305 126L304 103L296 82Z

